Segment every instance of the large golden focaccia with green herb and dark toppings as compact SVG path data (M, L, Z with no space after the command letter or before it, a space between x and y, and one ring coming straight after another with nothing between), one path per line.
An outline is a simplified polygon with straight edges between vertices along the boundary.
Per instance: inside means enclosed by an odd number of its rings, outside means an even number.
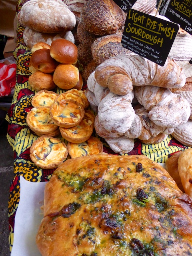
M42 256L188 256L192 200L146 156L66 160L45 187Z

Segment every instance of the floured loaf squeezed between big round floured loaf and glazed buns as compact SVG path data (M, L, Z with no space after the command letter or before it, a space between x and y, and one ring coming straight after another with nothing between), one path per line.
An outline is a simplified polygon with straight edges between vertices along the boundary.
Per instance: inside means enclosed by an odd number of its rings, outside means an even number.
M75 38L71 31L67 31L64 33L41 33L33 30L32 28L26 27L23 31L23 39L26 44L26 46L29 49L32 49L32 47L37 44L38 42L44 42L48 45L51 45L52 42L58 38L64 38L66 40L69 40L70 42L74 43Z

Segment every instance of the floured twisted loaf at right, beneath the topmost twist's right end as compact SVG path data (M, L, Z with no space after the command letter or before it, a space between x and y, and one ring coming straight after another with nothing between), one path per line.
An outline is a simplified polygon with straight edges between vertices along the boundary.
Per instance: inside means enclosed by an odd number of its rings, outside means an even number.
M182 96L168 88L136 86L134 95L138 102L149 111L149 118L162 127L176 127L185 124L190 117L190 105Z

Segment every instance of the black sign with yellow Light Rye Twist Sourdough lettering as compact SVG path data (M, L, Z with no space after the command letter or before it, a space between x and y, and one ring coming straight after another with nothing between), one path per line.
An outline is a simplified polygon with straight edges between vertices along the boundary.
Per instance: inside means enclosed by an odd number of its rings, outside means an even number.
M161 18L129 9L122 46L164 66L180 26Z

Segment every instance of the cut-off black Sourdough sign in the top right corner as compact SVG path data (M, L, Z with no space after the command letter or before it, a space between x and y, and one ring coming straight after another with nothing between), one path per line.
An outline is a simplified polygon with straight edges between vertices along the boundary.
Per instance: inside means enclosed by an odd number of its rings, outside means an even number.
M192 0L170 0L165 16L192 35Z

